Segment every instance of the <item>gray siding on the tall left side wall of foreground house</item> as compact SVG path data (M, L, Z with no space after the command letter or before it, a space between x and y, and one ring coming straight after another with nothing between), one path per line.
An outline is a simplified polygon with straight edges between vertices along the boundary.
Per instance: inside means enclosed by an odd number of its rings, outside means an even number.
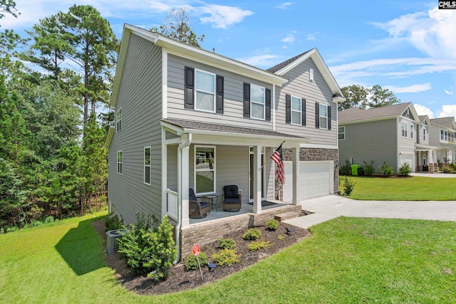
M116 109L122 130L109 149L110 202L125 224L135 213L161 216L161 48L134 34L130 37ZM144 184L144 147L151 147L151 183ZM116 173L117 151L123 151L123 174Z

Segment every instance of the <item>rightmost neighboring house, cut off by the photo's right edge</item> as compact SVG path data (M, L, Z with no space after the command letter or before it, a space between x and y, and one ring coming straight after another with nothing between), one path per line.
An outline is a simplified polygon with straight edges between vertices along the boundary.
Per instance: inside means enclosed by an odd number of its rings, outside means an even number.
M455 162L455 117L432 118L430 122L430 145L435 147L435 161Z

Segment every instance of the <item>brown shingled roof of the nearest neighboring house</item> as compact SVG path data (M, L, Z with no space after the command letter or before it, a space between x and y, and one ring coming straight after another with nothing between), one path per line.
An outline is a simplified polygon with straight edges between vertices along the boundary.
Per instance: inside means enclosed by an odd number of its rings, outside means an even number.
M338 112L338 122L341 124L343 122L360 122L364 120L380 120L398 117L402 115L407 108L410 108L413 117L418 121L420 118L412 103L398 103L396 105L388 105L382 108L371 108L367 110L349 108Z

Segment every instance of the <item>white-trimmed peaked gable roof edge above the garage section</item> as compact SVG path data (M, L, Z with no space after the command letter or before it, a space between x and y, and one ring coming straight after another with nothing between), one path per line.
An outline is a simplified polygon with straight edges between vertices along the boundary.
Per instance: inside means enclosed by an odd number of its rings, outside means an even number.
M289 70L296 68L296 66L300 65L309 58L314 61L321 75L323 75L324 80L328 83L329 88L331 88L333 94L336 95L334 96L336 101L345 100L341 88L339 88L339 85L336 83L336 79L334 79L328 65L326 65L323 61L320 52L318 52L316 48L312 48L311 50L301 53L298 56L294 56L287 61L274 65L272 68L269 68L268 71L276 75L285 75L289 72Z

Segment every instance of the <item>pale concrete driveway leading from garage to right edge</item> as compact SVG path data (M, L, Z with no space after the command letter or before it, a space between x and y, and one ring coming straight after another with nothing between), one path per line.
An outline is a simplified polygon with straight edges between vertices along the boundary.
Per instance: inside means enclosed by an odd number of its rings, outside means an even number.
M357 201L329 195L301 201L300 205L315 213L286 223L309 228L338 216L456 221L456 201Z

